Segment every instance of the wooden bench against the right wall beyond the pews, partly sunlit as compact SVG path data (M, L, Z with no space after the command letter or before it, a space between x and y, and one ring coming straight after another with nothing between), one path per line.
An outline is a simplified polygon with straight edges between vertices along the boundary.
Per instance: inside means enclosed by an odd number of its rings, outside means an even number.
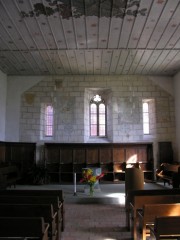
M157 181L161 179L164 185L168 183L173 188L180 185L180 164L162 163L160 169L156 171Z

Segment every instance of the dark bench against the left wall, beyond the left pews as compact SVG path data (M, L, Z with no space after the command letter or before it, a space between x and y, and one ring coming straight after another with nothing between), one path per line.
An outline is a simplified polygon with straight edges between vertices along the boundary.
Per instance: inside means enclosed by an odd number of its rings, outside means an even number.
M0 188L16 186L16 182L20 179L20 174L16 166L0 167Z

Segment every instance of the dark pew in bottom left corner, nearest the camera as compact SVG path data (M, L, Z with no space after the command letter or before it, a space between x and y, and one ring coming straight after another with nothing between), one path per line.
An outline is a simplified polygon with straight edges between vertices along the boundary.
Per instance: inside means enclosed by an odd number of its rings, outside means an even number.
M43 218L0 217L0 239L48 240L49 224Z

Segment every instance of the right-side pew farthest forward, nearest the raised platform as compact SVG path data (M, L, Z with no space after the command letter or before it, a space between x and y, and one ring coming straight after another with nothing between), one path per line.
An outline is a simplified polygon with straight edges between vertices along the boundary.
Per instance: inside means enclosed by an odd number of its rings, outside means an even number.
M135 196L156 196L156 195L180 195L180 189L149 189L149 190L130 190L126 196L126 226L130 230L130 215L132 205L135 205ZM145 202L144 202L145 203Z

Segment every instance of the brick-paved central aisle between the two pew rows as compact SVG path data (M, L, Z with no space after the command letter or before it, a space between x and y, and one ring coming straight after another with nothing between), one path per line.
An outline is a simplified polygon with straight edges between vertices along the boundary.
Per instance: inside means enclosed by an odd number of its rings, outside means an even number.
M62 240L129 240L125 208L118 204L65 205L65 231Z

